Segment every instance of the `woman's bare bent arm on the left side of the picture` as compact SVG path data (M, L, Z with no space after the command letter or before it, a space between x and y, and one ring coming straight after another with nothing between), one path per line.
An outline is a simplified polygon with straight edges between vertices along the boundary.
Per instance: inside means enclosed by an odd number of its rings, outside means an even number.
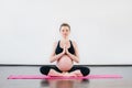
M54 45L53 45L53 52L52 52L51 57L50 57L51 63L59 59L65 54L65 50L64 50L61 54L56 55L55 54L56 46L57 46L57 42L55 42Z

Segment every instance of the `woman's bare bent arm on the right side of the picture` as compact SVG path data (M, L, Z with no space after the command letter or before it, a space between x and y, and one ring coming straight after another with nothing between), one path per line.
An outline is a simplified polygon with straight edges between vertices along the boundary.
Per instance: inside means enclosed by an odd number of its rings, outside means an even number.
M73 42L73 46L75 48L75 55L70 54L68 52L68 50L66 50L66 54L73 59L75 61L76 63L79 63L79 53L78 53L78 47L77 47L77 44L75 42Z

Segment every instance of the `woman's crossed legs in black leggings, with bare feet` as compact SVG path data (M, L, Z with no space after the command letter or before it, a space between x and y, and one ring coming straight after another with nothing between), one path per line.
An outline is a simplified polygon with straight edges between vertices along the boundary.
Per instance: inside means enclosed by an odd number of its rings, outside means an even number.
M40 72L43 75L51 75L51 76L87 76L90 73L90 69L85 66L73 66L70 70L64 73L59 70L56 66L42 66Z

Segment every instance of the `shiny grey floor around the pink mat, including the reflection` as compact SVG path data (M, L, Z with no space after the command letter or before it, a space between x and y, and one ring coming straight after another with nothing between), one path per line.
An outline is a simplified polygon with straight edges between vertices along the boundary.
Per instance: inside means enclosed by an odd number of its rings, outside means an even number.
M89 66L91 75L121 75L121 79L7 79L9 75L41 75L40 66L0 66L0 88L132 88L132 66Z

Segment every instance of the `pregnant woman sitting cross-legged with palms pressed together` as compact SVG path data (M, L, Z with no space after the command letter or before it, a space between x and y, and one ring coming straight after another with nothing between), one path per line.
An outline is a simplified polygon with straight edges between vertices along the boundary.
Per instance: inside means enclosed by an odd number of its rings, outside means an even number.
M74 66L79 63L79 54L76 42L68 38L70 26L63 23L59 28L62 38L53 45L53 53L50 62L56 62L55 66L42 66L40 72L48 76L87 76L90 73L88 67Z

